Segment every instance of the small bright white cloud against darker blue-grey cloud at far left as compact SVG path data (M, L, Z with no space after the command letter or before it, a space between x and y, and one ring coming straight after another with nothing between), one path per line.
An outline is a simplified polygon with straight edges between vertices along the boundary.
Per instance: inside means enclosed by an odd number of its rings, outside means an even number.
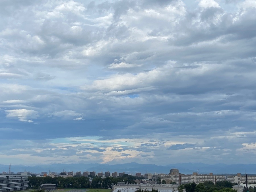
M36 119L39 117L37 111L27 109L5 110L5 113L7 113L6 117L8 118L18 118L19 121L29 123L33 122L31 119Z

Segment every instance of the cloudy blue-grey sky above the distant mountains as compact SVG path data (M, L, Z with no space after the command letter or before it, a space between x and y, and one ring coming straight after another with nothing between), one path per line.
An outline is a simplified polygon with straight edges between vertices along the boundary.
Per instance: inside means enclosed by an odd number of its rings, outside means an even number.
M1 0L0 16L0 164L255 163L255 0Z

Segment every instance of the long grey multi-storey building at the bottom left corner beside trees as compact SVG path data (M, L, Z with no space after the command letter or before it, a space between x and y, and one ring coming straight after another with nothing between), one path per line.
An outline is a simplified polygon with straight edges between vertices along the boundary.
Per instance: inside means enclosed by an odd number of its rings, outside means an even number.
M20 191L28 187L28 177L26 176L0 176L0 189L2 192Z

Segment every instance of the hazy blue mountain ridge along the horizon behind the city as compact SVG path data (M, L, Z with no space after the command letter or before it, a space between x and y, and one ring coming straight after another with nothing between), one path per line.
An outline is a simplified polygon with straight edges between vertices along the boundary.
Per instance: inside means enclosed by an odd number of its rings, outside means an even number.
M171 168L179 169L179 172L182 174L192 174L193 172L199 173L214 173L214 174L236 174L241 173L244 174L256 174L256 164L233 164L233 165L226 165L226 164L203 164L203 163L177 163L177 164L169 164L167 166L158 166L155 164L139 164L135 162L125 163L125 164L50 164L50 165L36 165L36 166L25 166L25 165L12 165L11 172L23 172L29 171L33 173L41 173L41 172L84 172L84 171L95 171L96 174L98 172L125 172L127 174L135 174L136 172L141 172L142 174L146 173L165 173L168 174ZM9 171L9 165L2 165L0 164L0 172L7 172Z

